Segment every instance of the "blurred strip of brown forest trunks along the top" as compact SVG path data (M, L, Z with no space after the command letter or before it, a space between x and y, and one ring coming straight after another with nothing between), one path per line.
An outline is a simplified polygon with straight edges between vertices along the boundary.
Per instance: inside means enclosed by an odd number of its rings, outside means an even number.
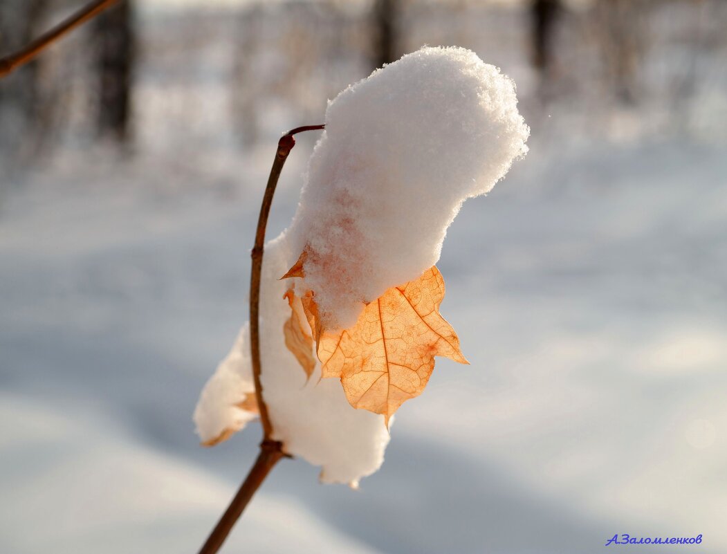
M0 51L79 5L4 0ZM422 44L502 67L536 135L712 140L725 133L726 24L723 0L124 1L0 82L0 164L22 173L99 142L249 148L317 123L327 99Z

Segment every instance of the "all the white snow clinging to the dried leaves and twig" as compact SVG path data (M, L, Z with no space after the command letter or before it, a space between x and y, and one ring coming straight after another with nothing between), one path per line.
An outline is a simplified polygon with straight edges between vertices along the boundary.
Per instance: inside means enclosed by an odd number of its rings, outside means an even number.
M276 440L321 465L324 482L357 483L383 462L381 415L353 409L340 382L307 382L287 350L278 281L300 253L329 326L356 322L364 302L419 277L437 262L462 202L487 193L527 151L529 129L515 85L461 48L422 48L329 103L292 226L265 246L261 288L262 388ZM300 300L299 300L300 302ZM195 412L203 441L253 417L245 326L206 385Z

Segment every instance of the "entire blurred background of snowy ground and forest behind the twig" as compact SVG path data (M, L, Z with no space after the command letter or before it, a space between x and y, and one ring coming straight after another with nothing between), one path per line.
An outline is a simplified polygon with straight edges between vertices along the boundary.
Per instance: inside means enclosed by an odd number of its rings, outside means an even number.
M78 4L3 0L1 52ZM196 552L259 440L190 416L277 137L422 44L499 65L533 131L439 264L472 365L438 361L360 491L282 462L223 551L726 552L726 28L723 0L138 0L0 81L0 552Z

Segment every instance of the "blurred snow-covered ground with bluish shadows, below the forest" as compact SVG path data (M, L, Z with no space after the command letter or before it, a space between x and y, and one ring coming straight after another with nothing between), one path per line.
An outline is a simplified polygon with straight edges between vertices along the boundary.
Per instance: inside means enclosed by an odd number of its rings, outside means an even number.
M268 127L318 121L278 106L241 152L224 44L149 52L135 156L72 144L0 182L2 554L194 552L256 454L254 425L200 448L191 414L247 318ZM531 152L467 201L438 264L471 365L438 361L361 490L281 462L223 551L591 554L624 533L704 537L632 553L727 551L725 142L593 140L573 129L603 113L525 108ZM639 109L624 129L648 127Z

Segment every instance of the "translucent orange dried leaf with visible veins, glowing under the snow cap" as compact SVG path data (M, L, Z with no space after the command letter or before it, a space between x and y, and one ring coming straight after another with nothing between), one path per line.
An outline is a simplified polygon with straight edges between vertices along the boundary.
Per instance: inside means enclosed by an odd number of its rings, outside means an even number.
M340 377L354 408L390 417L422 393L434 369L434 356L461 364L459 338L440 315L444 280L436 267L395 286L364 308L350 329L321 329L313 294L301 298L318 342L322 377Z

